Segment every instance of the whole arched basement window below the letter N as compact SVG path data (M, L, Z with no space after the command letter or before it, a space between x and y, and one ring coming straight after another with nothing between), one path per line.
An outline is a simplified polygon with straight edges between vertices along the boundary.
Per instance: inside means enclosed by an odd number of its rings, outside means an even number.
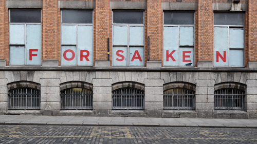
M215 110L244 110L246 85L239 83L222 83L215 85Z

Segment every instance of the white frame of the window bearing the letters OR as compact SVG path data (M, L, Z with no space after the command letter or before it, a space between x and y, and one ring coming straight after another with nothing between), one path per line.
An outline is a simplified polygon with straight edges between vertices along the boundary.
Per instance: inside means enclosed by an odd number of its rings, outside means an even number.
M67 9L63 9L67 10ZM72 9L73 10L73 9ZM74 9L76 10L76 9ZM69 23L69 24L63 24L62 23L62 9L61 9L61 66L93 66L94 65L94 10L88 9L88 11L92 11L92 24L78 24L78 23ZM62 45L62 26L76 26L76 45ZM78 65L79 63L79 48L78 48L78 26L92 26L92 65ZM63 65L62 63L62 46L76 46L76 65Z

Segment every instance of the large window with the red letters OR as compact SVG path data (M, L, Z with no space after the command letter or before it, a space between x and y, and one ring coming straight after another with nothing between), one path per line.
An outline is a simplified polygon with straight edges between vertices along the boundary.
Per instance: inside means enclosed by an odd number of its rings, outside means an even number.
M62 66L93 66L93 10L62 10Z

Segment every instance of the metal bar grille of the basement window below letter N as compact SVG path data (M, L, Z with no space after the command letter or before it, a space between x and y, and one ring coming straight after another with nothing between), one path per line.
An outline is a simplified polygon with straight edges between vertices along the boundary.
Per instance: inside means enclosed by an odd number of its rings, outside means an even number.
M236 89L222 89L214 92L215 110L244 110L245 92Z

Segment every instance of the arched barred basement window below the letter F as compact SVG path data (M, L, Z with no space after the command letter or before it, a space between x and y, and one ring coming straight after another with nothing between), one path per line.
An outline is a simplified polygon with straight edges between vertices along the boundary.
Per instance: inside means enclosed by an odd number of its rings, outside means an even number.
M16 81L7 84L9 109L40 109L40 84Z

